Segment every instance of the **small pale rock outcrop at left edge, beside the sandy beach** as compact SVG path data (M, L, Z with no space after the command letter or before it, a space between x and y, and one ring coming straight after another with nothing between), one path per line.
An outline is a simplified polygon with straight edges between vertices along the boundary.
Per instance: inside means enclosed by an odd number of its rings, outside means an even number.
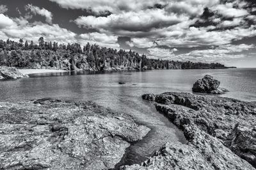
M0 80L1 79L16 79L28 77L20 73L15 67L0 66Z

